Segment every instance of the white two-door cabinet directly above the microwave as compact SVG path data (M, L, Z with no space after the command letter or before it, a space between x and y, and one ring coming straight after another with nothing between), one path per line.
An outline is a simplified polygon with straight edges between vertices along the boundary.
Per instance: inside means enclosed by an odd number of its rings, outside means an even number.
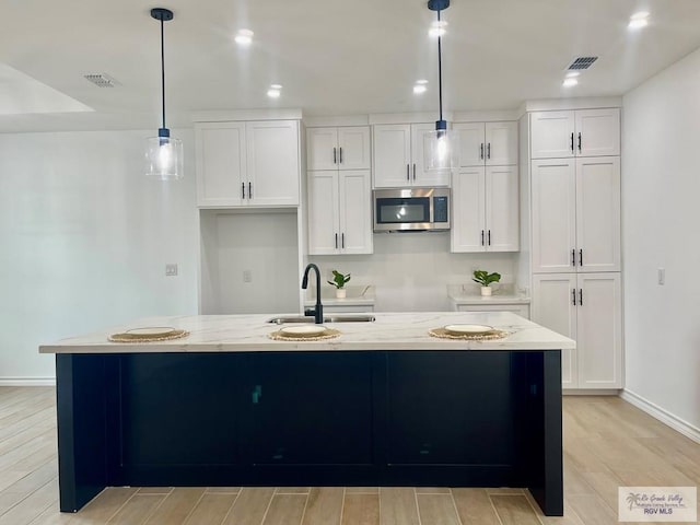
M390 124L373 127L375 188L448 186L450 170L425 167L424 135L434 124Z

